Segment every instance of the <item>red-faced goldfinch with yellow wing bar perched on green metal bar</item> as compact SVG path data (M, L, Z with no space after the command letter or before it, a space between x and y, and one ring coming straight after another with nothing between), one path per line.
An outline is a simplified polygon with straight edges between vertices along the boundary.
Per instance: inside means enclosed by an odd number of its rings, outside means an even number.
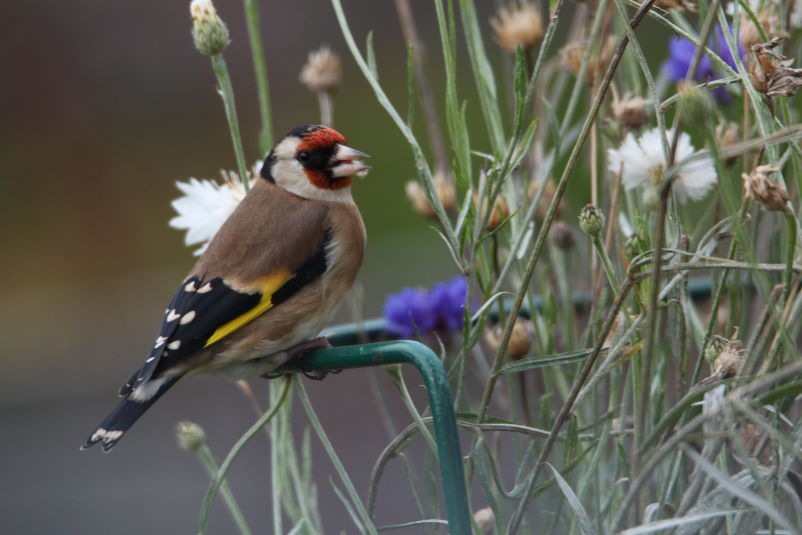
M165 311L124 400L83 448L108 452L156 400L202 373L245 379L330 347L315 338L362 265L365 226L351 197L367 154L331 128L305 125L280 140L250 192L217 231Z

